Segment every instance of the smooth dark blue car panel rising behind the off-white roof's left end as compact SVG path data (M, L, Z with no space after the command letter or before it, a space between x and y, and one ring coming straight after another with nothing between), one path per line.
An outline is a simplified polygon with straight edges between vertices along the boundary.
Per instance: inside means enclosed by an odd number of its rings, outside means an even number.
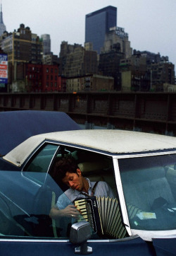
M64 112L22 110L0 112L0 155L4 156L30 136L81 129Z

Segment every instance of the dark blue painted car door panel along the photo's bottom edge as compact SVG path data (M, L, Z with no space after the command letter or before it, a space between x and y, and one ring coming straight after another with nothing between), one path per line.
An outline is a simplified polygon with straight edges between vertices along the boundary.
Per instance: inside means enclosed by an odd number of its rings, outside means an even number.
M134 238L130 240L118 241L104 241L92 242L88 241L88 246L92 247L92 255L155 255L154 250L150 248L141 238ZM8 250L8 255L75 255L74 251L77 245L70 242L57 242L55 241L41 241L41 240L0 240L1 252ZM5 256L5 254L2 256Z

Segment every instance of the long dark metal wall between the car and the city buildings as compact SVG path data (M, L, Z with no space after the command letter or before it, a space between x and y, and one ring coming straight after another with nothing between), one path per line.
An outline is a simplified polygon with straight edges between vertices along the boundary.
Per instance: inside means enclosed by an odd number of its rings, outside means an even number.
M0 93L0 110L62 111L88 129L176 134L176 93Z

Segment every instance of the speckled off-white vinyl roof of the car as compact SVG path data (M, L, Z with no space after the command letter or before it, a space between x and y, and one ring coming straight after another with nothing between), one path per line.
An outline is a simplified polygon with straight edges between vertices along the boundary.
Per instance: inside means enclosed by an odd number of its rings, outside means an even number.
M22 165L44 140L85 146L107 153L137 153L176 149L176 137L122 130L75 130L32 136L4 156L6 161Z

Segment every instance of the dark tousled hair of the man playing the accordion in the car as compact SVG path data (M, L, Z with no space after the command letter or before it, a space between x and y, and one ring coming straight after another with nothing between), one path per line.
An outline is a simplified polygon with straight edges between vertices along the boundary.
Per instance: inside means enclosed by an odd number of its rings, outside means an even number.
M54 166L54 176L57 180L61 180L65 177L65 174L68 173L77 173L77 163L73 157L65 157L56 161Z

